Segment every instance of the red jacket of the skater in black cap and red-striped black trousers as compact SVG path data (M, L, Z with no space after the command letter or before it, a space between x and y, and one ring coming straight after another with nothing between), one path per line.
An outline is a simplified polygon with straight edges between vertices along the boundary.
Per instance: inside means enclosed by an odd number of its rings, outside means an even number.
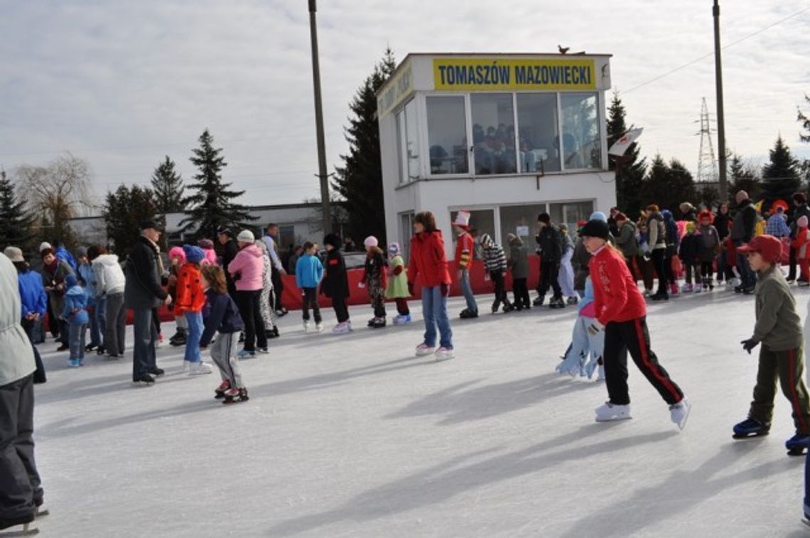
M609 246L590 258L596 318L603 325L629 322L647 314L647 305L633 281L624 257Z

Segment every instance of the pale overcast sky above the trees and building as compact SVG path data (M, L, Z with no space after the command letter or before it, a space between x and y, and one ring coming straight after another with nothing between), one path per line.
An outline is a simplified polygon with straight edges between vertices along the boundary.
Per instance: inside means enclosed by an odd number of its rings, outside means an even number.
M710 0L321 0L326 148L345 152L348 102L386 45L409 52L612 53L612 82L642 152L697 168L701 97L714 117ZM767 158L778 133L796 154L796 107L810 93L810 2L725 0L723 44L803 13L724 51L728 147ZM318 196L306 0L59 0L3 2L0 164L87 159L102 196L149 181L165 155L184 177L208 127L224 147L224 177L245 203ZM635 89L634 89L635 88ZM808 107L805 107L807 109ZM715 139L716 144L716 139ZM716 151L716 145L715 145Z

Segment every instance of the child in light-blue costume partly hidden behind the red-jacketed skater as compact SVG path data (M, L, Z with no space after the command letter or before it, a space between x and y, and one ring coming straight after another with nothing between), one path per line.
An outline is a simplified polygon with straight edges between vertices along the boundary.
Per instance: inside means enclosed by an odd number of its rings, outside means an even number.
M605 370L602 365L602 352L605 346L604 331L599 331L591 335L588 327L595 323L596 310L594 305L594 284L585 281L585 297L579 301L579 315L573 324L573 334L571 335L571 345L565 353L563 361L557 365L556 371L561 374L569 374L571 377L580 376L592 378L594 370L599 366L599 378L605 378ZM589 360L590 359L590 360Z

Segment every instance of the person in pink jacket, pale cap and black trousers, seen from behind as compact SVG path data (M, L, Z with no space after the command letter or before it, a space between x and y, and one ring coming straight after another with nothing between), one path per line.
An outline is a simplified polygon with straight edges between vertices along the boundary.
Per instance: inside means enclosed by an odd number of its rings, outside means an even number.
M228 265L228 272L236 283L236 297L239 314L245 322L245 348L238 357L255 357L257 352L268 353L267 335L264 331L262 308L259 299L262 296L262 275L264 261L262 250L254 245L254 234L242 230L237 236L239 252Z

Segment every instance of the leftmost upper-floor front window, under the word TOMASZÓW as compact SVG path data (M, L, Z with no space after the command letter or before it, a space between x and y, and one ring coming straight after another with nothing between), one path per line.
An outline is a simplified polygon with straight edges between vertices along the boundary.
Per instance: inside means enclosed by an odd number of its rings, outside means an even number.
M464 96L428 96L430 173L468 173Z

